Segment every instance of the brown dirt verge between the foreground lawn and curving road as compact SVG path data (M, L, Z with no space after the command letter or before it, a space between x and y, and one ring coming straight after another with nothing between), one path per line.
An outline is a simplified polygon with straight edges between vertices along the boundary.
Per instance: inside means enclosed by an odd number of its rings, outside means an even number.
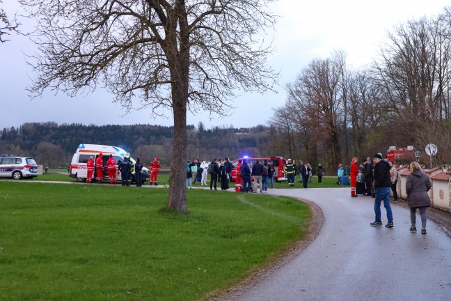
M315 240L322 228L324 215L321 208L319 208L317 204L303 199L299 200L307 203L310 207L310 212L312 213L312 222L310 222L310 225L308 226L307 236L302 240L295 242L292 247L285 250L285 252L278 254L271 262L267 263L258 270L251 271L251 275L244 278L242 281L239 281L238 284L235 284L230 288L225 288L221 291L209 293L205 296L205 298L203 298L204 300L229 301L237 299L244 292L259 284L276 270L283 267L287 263L290 263L290 261L292 261L296 256L299 256L299 254L301 254L301 252L303 252L303 250L306 249L306 247L308 247L313 240Z

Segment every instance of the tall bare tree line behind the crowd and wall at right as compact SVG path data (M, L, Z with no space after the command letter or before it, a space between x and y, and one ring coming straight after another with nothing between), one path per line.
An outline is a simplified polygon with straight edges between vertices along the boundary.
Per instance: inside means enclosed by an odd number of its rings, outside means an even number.
M344 51L302 68L269 123L271 151L331 168L389 146L424 153L434 143L434 164L450 164L450 81L448 7L395 26L367 68L352 68Z

